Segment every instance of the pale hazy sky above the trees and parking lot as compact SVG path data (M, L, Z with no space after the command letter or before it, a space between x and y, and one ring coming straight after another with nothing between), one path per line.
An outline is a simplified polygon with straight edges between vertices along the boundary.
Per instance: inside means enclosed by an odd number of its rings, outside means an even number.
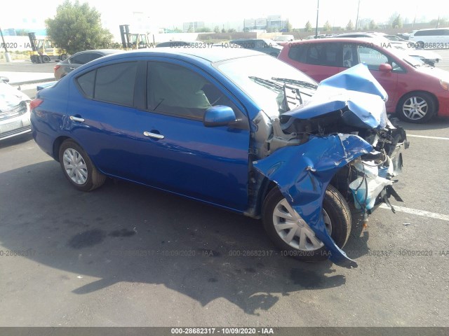
M45 18L53 17L56 7L63 0L36 1L20 0L2 1L0 5L1 27L20 28L24 26L23 19L29 22L32 19L36 23L43 22ZM82 0L80 2L83 2ZM315 0L296 1L257 1L253 3L242 0L194 0L194 1L104 1L88 0L91 6L97 8L102 13L102 20L110 27L116 29L117 22L121 24L131 24L126 22L131 17L133 11L145 13L154 27L182 27L182 22L204 21L208 22L243 22L244 18L264 18L267 15L283 15L288 18L293 27L303 28L309 20L315 25L316 3ZM331 25L346 26L351 19L356 20L358 0L321 0L319 11L319 25L323 25L329 20ZM20 3L20 6L15 5ZM403 18L421 18L432 20L438 18L438 14L449 15L448 5L442 5L443 1L436 0L361 0L359 18L373 18L375 22L386 22L392 13L398 12ZM445 8L443 8L443 6Z

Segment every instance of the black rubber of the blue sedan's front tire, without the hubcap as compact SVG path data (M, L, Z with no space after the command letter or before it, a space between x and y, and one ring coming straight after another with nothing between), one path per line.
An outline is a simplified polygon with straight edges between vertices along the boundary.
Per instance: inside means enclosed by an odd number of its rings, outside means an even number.
M314 250L300 249L290 246L276 232L274 225L274 211L283 202L285 198L279 191L279 188L273 188L267 195L262 209L263 224L265 231L276 246L278 246L283 255L290 255L302 261L321 261L328 258L325 246ZM343 196L333 186L328 186L323 200L323 210L326 211L331 223L332 237L340 248L346 244L351 233L351 211ZM324 214L324 213L323 213ZM291 229L293 230L293 229ZM308 238L307 238L308 239Z

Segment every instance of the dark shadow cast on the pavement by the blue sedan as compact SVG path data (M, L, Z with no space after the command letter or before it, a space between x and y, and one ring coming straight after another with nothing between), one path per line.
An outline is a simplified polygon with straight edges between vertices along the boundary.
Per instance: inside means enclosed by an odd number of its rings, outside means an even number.
M100 278L76 288L79 295L121 281L156 283L203 305L224 297L257 314L279 295L346 282L330 262L280 255L260 221L121 181L81 193L58 162L4 172L0 188L0 244L49 267ZM363 245L351 238L349 249L363 254Z

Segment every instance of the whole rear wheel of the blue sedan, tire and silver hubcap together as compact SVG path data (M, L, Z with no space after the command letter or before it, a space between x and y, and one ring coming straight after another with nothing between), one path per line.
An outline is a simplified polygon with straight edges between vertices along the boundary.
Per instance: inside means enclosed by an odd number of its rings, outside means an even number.
M59 162L67 180L78 190L91 191L105 183L106 176L98 172L83 148L71 139L61 144Z

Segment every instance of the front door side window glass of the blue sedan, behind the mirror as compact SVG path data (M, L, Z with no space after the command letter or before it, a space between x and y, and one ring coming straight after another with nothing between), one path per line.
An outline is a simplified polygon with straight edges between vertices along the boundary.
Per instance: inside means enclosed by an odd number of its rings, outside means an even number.
M246 119L216 85L199 73L176 64L148 62L149 111L202 121L206 109L217 105L229 106L237 119Z

